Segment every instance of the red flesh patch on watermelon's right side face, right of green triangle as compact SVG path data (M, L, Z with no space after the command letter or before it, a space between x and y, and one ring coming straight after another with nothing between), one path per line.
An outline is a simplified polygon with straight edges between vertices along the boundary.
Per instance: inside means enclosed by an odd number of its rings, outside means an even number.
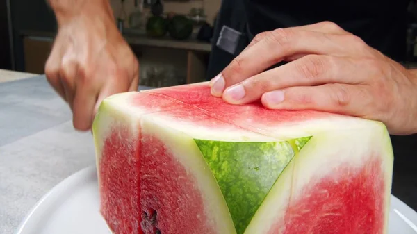
M375 209L384 207L380 165L379 158L371 158L360 169L335 169L336 181L312 178L302 197L290 201L284 221L273 224L268 233L281 227L283 233L384 233L384 210Z

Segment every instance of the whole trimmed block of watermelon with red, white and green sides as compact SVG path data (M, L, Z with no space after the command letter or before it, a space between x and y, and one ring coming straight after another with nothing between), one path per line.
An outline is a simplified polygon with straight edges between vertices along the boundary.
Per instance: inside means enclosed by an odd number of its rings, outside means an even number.
M116 234L387 231L393 151L380 122L229 105L195 83L114 94L93 134Z

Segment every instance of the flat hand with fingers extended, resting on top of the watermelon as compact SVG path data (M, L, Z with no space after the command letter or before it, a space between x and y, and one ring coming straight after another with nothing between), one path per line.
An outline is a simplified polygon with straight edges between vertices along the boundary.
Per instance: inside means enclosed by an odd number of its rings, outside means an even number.
M281 61L285 65L268 69ZM250 45L210 82L232 104L320 110L378 120L391 134L417 133L417 72L332 22L277 29Z

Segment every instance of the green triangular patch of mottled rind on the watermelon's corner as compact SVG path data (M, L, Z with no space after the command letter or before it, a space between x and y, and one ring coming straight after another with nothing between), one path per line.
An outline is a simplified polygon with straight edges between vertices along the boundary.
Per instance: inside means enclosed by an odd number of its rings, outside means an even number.
M222 189L238 234L244 233L281 172L310 139L302 137L276 142L195 139Z

